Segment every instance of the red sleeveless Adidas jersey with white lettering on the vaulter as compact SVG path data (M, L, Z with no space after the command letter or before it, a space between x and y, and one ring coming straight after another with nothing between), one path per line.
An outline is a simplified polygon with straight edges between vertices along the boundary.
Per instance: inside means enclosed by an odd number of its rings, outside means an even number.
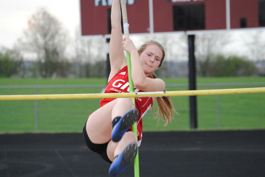
M130 92L130 90L129 90L128 69L127 66L125 66L107 83L105 93L127 93L127 92ZM134 92L143 92L143 91L134 88ZM103 106L114 99L116 98L104 98L100 100L100 106ZM153 105L152 97L135 97L135 107L139 111L139 117L136 121L138 146L140 146L142 141L142 130L143 130L142 118L146 114L146 112L151 108L152 105ZM130 127L130 130L132 130L132 127Z

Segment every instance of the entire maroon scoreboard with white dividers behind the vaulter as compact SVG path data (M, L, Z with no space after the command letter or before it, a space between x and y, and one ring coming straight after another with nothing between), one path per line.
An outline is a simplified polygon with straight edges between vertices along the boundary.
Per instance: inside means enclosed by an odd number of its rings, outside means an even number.
M112 0L80 0L82 35L110 34ZM127 0L130 33L265 27L265 0Z

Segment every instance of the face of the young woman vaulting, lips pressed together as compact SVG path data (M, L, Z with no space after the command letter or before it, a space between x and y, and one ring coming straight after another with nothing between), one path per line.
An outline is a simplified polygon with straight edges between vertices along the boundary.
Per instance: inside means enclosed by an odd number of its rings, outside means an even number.
M140 54L140 62L146 76L153 73L160 65L163 57L162 50L156 45L148 45L143 53Z

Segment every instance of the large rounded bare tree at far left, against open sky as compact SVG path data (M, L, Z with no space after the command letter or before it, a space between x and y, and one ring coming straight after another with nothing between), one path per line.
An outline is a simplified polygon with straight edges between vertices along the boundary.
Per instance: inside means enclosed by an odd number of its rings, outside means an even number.
M19 40L26 53L36 56L40 76L52 77L65 75L64 52L67 45L67 34L62 24L45 9L40 9L28 21L24 37Z

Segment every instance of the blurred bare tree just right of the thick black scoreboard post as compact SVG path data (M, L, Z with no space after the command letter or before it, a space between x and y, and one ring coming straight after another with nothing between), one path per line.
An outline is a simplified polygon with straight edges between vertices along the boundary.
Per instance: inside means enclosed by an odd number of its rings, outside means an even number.
M195 38L195 56L201 76L209 76L211 59L221 53L230 41L229 33L197 34Z

